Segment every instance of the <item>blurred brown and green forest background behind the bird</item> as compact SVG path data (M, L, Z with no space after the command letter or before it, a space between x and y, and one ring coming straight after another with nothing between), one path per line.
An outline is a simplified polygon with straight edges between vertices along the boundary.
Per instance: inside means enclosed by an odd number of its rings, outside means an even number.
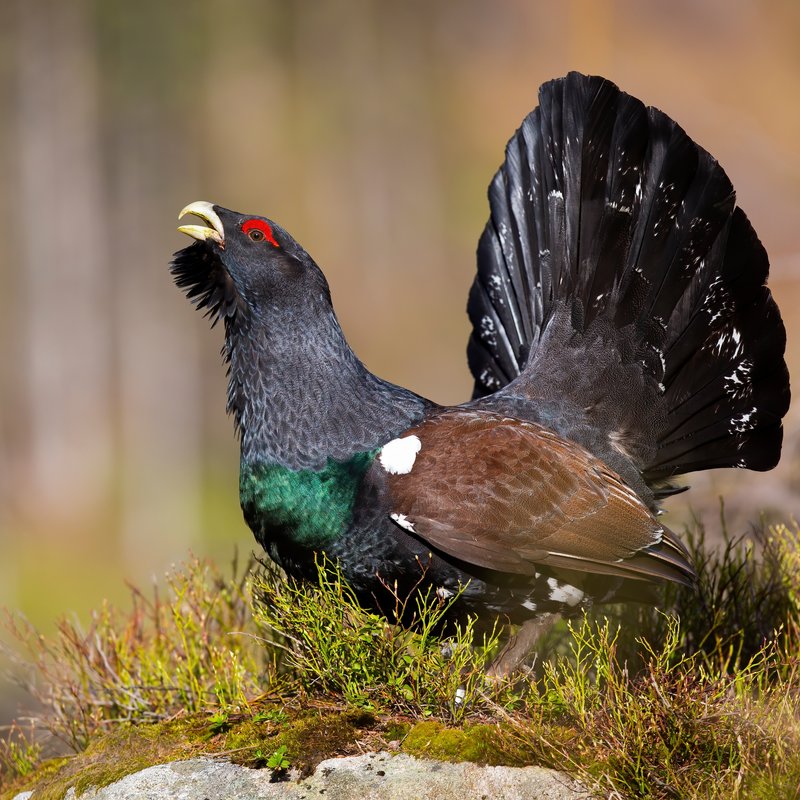
M796 0L0 0L0 606L48 628L253 545L221 331L167 272L190 201L278 220L371 369L466 399L486 187L569 69L721 161L800 374L799 43ZM799 405L779 471L696 476L678 517L796 515Z

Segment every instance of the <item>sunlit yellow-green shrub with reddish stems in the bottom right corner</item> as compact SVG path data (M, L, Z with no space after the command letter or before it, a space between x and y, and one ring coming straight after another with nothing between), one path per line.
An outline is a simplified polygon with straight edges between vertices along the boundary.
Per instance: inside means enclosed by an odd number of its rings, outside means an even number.
M800 702L787 684L765 684L767 666L791 657L765 645L731 679L702 654L681 655L677 618L665 624L660 648L641 642L635 675L619 661L608 622L571 626L571 657L546 664L531 685L529 708L544 724L516 720L520 735L616 796L739 796L746 778L800 747ZM574 731L569 748L542 736L555 721Z

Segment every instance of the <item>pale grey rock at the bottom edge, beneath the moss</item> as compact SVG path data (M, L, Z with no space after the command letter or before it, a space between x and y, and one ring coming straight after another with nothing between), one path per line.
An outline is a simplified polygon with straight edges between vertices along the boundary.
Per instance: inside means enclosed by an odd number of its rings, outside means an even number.
M30 793L15 800L26 800ZM196 758L150 767L80 800L588 800L591 793L542 767L480 767L390 753L323 761L304 780ZM77 800L74 789L66 800Z

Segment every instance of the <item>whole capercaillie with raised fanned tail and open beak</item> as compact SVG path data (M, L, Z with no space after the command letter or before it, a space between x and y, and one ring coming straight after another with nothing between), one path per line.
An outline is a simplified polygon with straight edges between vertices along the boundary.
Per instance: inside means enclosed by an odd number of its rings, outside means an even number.
M538 630L691 585L659 519L675 479L780 457L786 335L722 167L602 77L538 101L489 186L461 405L371 373L278 223L180 213L203 224L179 227L195 241L171 272L224 324L245 521L289 576L313 581L324 556L387 616L424 589Z

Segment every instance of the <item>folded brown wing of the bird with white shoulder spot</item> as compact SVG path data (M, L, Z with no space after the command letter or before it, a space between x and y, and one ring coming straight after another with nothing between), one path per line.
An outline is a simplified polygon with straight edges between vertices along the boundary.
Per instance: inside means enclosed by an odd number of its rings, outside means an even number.
M418 439L416 454L393 461L391 448L408 437ZM618 475L534 423L448 411L387 445L372 468L386 473L399 525L468 563L521 574L548 565L644 580L693 575L683 545Z

